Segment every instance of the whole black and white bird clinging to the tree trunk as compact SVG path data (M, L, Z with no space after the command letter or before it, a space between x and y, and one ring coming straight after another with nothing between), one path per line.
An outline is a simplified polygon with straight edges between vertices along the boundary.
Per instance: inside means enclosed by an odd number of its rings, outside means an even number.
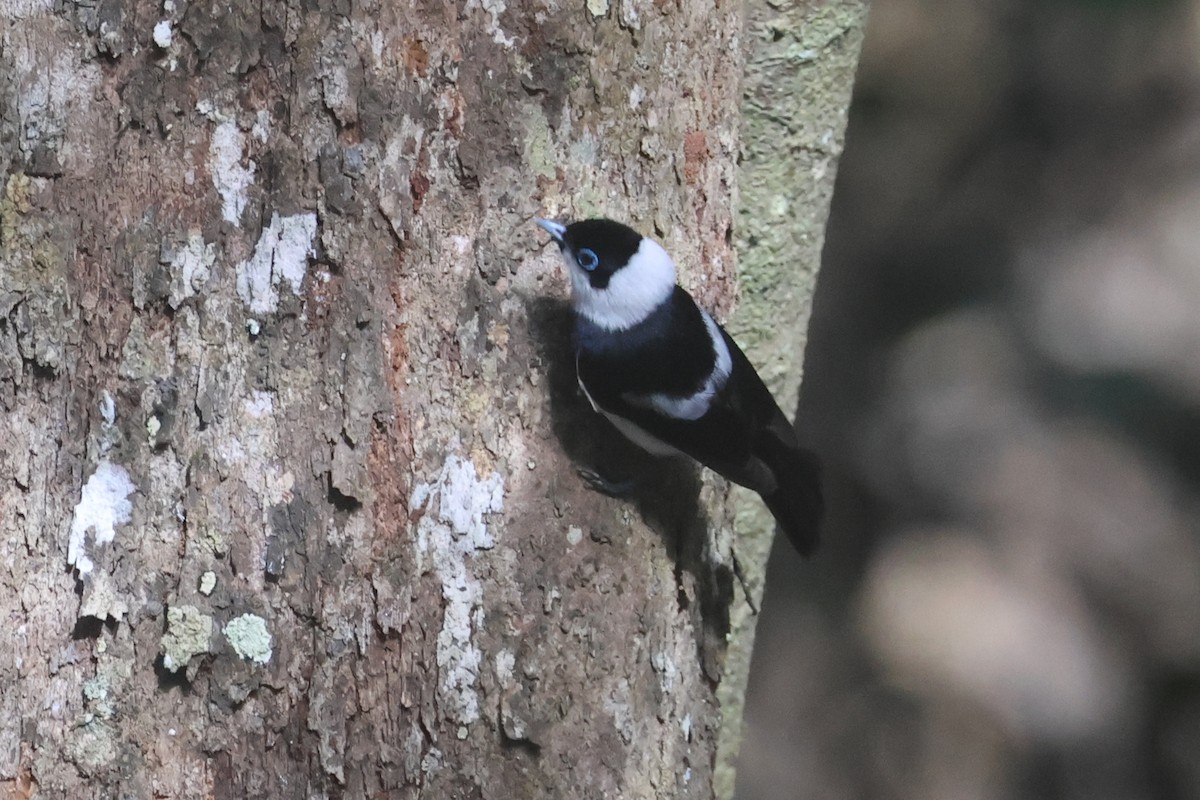
M538 219L566 261L580 387L634 444L686 455L762 495L802 554L822 513L816 457L662 247L612 219Z

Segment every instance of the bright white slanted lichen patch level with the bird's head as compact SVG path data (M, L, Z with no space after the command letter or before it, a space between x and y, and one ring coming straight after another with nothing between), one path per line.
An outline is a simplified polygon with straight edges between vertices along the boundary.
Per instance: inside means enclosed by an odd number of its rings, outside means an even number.
M238 265L238 295L251 312L269 314L278 308L281 283L286 282L293 294L300 294L308 257L316 252L316 213L271 215L271 224L258 237L254 254Z

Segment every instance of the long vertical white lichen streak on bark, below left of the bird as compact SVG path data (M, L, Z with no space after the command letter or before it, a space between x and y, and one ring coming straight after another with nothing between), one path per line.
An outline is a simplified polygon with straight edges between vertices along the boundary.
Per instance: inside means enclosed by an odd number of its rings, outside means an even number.
M497 473L480 479L475 464L451 453L432 483L413 489L410 509L425 509L416 525L418 559L442 581L446 602L438 633L438 698L460 726L479 718L475 684L482 654L472 633L484 625L482 585L468 569L468 557L488 551L496 540L485 515L504 509L504 482Z

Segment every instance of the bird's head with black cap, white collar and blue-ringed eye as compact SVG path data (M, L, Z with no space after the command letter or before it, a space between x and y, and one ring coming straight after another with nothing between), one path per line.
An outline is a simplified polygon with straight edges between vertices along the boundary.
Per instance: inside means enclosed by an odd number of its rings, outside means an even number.
M628 225L612 219L538 224L563 253L575 311L605 330L637 325L674 291L674 261Z

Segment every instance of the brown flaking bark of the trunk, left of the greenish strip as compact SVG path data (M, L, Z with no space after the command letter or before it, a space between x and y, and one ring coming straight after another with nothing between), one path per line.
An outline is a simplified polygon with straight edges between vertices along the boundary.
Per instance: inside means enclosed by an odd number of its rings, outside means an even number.
M710 796L724 485L582 489L530 218L727 311L739 6L0 25L0 792Z

